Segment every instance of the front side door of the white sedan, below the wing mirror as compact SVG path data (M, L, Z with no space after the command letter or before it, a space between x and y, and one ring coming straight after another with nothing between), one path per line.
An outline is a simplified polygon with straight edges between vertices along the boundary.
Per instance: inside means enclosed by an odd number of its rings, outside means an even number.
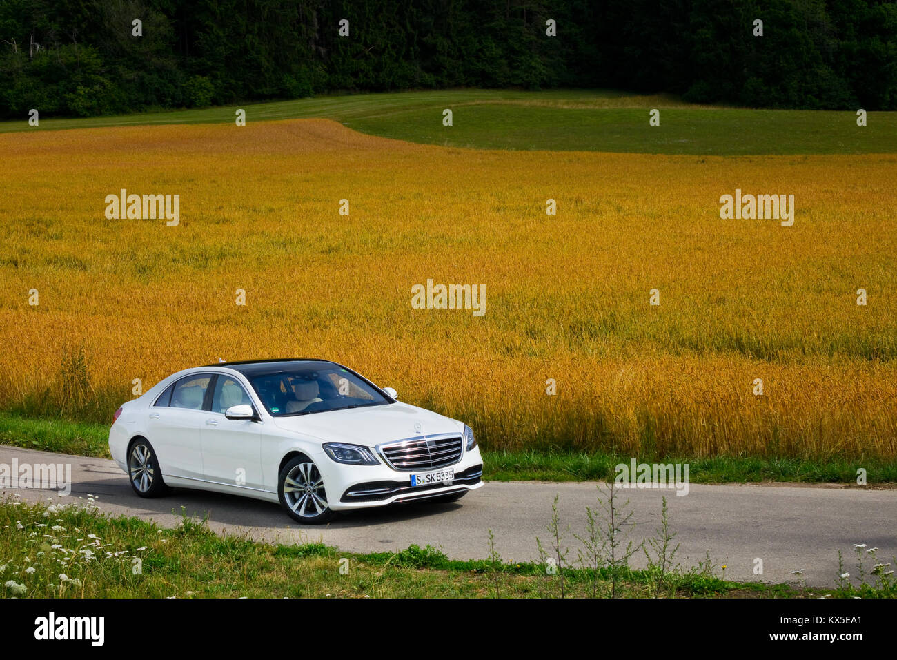
M259 423L228 419L224 411L256 404L235 376L218 374L202 431L205 479L228 486L262 489L262 436Z

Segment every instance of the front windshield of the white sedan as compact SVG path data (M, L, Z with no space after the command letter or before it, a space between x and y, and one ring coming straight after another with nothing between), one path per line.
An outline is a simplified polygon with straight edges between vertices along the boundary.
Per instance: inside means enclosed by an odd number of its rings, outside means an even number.
M249 376L274 417L389 403L370 383L339 365L295 366Z

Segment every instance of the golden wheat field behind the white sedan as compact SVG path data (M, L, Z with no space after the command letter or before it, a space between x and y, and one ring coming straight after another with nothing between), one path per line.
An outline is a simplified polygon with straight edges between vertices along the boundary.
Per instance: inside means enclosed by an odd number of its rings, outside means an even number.
M320 356L491 449L897 458L897 155L473 151L323 119L0 148L0 408L108 420L135 378ZM178 194L179 226L107 219L120 189ZM793 194L794 226L720 219L735 189ZM428 278L484 285L484 315L414 309Z

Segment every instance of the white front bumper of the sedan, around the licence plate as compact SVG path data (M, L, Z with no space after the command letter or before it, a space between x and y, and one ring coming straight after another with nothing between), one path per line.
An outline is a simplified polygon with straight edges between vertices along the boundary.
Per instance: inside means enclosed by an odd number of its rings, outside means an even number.
M343 465L323 453L315 457L315 462L324 477L327 502L335 511L386 506L483 486L483 458L479 447L465 452L454 465L446 466L455 471L455 480L450 485L431 484L413 488L411 472L396 471L386 464Z

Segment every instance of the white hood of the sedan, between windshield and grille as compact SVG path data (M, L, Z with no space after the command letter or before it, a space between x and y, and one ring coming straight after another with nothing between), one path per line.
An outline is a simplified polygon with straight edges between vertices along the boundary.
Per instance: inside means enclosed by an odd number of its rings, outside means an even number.
M323 442L369 447L405 437L464 431L464 425L456 419L407 403L274 418L274 424L287 431L315 436Z

